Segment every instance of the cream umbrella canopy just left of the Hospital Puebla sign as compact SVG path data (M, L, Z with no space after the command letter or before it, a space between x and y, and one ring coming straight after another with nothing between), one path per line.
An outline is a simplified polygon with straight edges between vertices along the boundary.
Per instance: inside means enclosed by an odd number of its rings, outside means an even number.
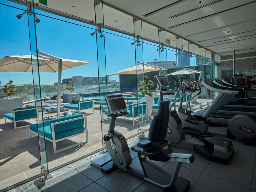
M162 68L162 70L166 70L166 69ZM137 65L128 67L126 69L123 69L121 71L118 71L116 73L113 73L111 75L136 75L136 74L138 75L138 74L148 73L152 71L160 71L160 68L153 65L148 65L148 64L145 64L145 65L137 64Z

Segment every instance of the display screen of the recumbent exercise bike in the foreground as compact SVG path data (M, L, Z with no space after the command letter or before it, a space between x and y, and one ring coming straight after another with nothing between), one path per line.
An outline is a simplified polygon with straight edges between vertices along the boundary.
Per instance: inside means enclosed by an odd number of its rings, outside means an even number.
M123 97L114 97L108 99L109 110L111 114L123 112L127 110Z

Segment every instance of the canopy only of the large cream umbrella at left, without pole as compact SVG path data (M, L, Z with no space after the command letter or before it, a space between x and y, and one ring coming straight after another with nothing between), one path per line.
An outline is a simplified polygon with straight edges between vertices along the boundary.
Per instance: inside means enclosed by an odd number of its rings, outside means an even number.
M32 59L37 59L32 55ZM40 72L58 72L58 61L44 55L38 55ZM90 62L62 59L62 71ZM10 55L0 59L0 72L32 72L31 55Z

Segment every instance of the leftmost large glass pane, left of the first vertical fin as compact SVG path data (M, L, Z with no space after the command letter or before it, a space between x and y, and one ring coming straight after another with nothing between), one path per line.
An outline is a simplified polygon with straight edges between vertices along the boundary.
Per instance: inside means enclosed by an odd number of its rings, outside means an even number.
M7 191L7 187L42 173L38 137L30 139L28 135L29 125L36 124L35 109L32 118L25 121L16 121L14 124L11 119L4 119L4 114L13 114L15 108L34 106L28 16L24 14L21 19L16 18L25 10L24 5L10 1L2 0L0 4L0 191ZM31 27L35 31L34 26ZM36 50L34 46L33 49ZM7 55L20 58L7 58ZM22 62L10 64L16 59L22 60L23 56L28 62L25 67ZM6 61L11 62L8 65ZM30 66L30 72L24 72L27 66ZM10 80L12 83L7 85ZM3 90L5 85L7 90ZM9 86L14 90L8 90ZM33 95L31 100L27 99L28 95ZM42 158L45 158L45 154L42 154Z

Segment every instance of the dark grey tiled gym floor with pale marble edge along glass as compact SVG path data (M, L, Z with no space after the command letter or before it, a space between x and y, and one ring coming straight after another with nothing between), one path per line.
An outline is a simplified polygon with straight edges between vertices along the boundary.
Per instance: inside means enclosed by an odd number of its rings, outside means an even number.
M136 140L136 139L135 139ZM234 156L228 165L222 165L205 160L195 154L192 164L182 164L179 176L191 182L189 191L193 192L255 192L256 191L256 147L245 146L232 140ZM245 150L246 148L246 150ZM192 153L182 148L172 147L174 152ZM97 155L97 154L96 154ZM53 171L53 178L41 183L38 180L10 190L20 191L164 191L143 179L139 179L123 170L117 169L106 175L100 168L90 165L90 159L83 159L84 164L78 166L75 162L69 166ZM137 154L131 151L133 162L131 166L141 169ZM80 160L81 161L81 160ZM172 172L174 163L156 162L167 171ZM57 173L56 173L57 172Z

